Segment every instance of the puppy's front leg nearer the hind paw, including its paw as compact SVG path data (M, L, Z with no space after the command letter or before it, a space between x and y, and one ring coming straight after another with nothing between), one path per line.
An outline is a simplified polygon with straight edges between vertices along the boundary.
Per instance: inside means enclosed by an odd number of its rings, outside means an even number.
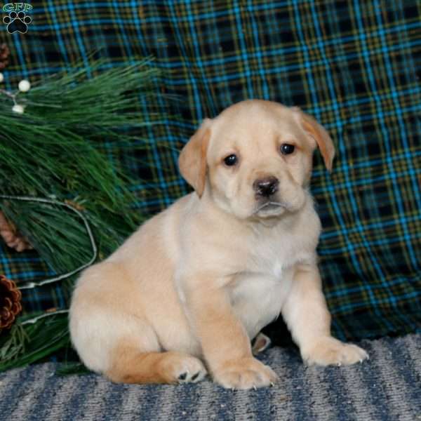
M271 385L277 376L253 357L250 339L232 311L227 290L215 286L215 279L201 277L201 286L189 288L186 300L213 379L230 389Z

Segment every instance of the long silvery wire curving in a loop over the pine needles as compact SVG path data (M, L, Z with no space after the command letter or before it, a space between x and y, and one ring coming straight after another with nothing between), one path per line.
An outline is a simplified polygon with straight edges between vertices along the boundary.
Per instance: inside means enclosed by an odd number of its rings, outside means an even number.
M31 196L8 196L6 194L0 194L0 199L33 201L33 202L39 202L39 203L48 203L51 205L65 206L65 208L73 210L83 220L83 224L85 225L86 232L88 233L88 236L89 236L89 240L91 241L91 248L92 248L93 256L91 260L89 260L89 262L72 270L72 272L68 272L67 274L55 276L54 278L50 278L50 279L44 279L44 281L24 283L22 286L20 285L18 286L19 289L32 289L32 288L35 288L36 286L41 286L41 285L46 285L47 283L61 281L62 279L69 278L69 276L72 276L76 274L77 272L80 272L81 270L85 269L86 267L91 266L93 262L95 262L96 258L98 257L98 248L95 243L95 239L93 238L91 227L89 226L89 222L86 219L86 217L83 215L83 213L79 212L79 210L75 209L73 206L70 206L67 203L60 202L60 201L55 201L55 200L50 200L50 199L39 199L37 197L31 197Z

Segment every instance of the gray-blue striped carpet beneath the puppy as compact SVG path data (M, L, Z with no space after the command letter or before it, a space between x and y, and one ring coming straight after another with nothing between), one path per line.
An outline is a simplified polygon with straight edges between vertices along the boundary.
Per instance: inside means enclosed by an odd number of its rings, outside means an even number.
M46 363L0 374L0 420L421 420L421 335L363 341L370 360L302 365L294 349L260 359L281 381L257 391L196 385L114 385L99 375L55 375Z

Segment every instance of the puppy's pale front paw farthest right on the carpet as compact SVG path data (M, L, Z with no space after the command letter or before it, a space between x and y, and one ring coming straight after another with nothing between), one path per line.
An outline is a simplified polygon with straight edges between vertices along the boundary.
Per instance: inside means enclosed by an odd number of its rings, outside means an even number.
M341 366L362 362L368 359L368 354L352 344L345 344L335 338L319 338L314 345L302 350L302 359L309 365Z

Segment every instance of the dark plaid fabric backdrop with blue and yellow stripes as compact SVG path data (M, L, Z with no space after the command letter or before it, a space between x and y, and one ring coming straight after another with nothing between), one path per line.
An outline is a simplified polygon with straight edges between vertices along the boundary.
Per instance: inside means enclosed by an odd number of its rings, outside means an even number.
M337 148L331 175L316 153L312 182L333 333L355 339L420 330L419 1L31 4L26 34L0 25L11 48L8 88L76 60L89 66L92 51L115 66L153 55L162 69L156 102L139 104L154 122L144 133L154 141L142 156L152 164L131 168L144 180L132 188L147 214L189 191L178 150L204 117L248 98L298 105L315 116ZM156 107L161 112L152 115ZM48 271L35 253L4 245L0 251L0 272L11 279ZM60 286L29 290L25 309L62 307L65 300Z

